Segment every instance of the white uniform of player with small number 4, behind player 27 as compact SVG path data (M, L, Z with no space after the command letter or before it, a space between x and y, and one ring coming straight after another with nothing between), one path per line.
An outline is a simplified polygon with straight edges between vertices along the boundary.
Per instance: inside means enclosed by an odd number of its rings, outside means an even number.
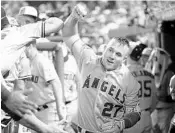
M79 88L79 70L75 58L68 50L66 44L62 44L64 56L64 94L67 110L67 121L72 120L72 116L77 111L77 90Z

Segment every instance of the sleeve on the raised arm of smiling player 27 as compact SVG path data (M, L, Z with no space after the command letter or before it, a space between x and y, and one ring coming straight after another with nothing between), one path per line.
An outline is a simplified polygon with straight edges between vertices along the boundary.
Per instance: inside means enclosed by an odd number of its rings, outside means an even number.
M95 57L95 52L92 48L87 46L79 37L78 34L71 37L64 37L64 42L72 51L79 69L81 71L82 64L87 63L91 58Z

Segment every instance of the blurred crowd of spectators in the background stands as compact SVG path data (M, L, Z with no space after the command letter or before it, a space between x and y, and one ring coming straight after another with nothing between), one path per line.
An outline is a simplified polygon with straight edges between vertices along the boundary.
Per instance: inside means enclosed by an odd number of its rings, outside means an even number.
M17 23L13 18L16 19L22 6L34 6L39 12L40 19L56 16L65 20L76 3L76 1L47 1L43 3L5 1L2 2L2 6L6 9L11 23L16 25ZM81 24L80 33L85 42L93 44L91 47L96 52L99 44L106 44L109 41L108 32L110 29L125 29L130 26L144 27L147 19L150 19L148 14L151 14L149 13L148 4L144 1L82 1L82 4L88 7L90 16L87 16L86 21ZM151 19L154 19L154 17ZM152 33L142 33L137 36L131 35L131 39L134 41L141 40L150 47L155 46L155 36Z

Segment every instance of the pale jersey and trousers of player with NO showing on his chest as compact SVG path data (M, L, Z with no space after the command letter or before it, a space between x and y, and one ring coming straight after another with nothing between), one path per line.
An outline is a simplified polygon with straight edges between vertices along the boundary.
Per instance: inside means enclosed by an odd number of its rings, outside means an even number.
M52 62L44 55L38 53L31 61L32 77L27 83L28 88L33 88L33 92L28 98L37 105L43 105L46 102L54 100L54 94L51 84L52 81L58 78ZM56 103L48 104L49 108L36 113L36 116L45 123L53 122L53 119L58 119L56 111Z

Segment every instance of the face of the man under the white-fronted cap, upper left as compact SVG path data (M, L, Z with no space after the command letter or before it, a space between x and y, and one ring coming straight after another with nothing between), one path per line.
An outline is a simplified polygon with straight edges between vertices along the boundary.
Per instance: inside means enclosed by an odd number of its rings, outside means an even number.
M18 23L19 25L26 25L26 24L31 24L34 23L35 19L30 16L19 16L18 17Z

